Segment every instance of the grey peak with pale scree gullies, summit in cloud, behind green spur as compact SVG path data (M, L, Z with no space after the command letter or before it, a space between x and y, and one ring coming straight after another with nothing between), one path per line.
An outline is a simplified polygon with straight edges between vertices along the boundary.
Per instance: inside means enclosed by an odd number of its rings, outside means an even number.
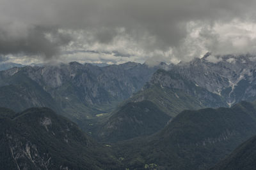
M211 62L212 58L218 59L218 62ZM256 99L254 58L249 54L212 56L207 53L202 59L177 64L170 71L218 94L225 104L232 106L239 101Z

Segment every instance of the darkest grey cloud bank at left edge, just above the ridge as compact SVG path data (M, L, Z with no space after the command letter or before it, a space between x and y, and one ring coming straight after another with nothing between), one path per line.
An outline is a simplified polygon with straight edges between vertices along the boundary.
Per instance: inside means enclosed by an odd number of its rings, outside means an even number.
M55 29L42 27L30 28L26 36L16 37L0 30L0 52L3 55L15 53L42 55L47 59L56 55L59 52L59 47L67 45L70 40L70 37L61 34Z

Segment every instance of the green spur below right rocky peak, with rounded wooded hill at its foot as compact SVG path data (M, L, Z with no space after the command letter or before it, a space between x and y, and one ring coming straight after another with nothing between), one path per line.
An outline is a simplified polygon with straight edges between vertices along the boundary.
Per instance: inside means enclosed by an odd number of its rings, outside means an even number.
M145 103L154 106L148 115L141 113L145 109ZM179 74L159 69L140 92L116 108L103 127L94 133L100 140L108 142L145 136L159 131L170 117L177 116L183 110L196 110L206 106L218 107L227 104L217 94L197 87ZM166 115L170 117L166 118ZM162 125L156 126L159 120ZM145 126L145 123L150 127Z

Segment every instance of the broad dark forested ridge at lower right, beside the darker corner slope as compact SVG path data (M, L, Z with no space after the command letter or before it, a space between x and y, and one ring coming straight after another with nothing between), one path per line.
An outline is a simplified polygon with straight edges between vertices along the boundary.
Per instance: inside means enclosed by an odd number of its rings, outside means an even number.
M207 169L255 134L256 105L242 102L182 111L156 134L113 148L130 169Z

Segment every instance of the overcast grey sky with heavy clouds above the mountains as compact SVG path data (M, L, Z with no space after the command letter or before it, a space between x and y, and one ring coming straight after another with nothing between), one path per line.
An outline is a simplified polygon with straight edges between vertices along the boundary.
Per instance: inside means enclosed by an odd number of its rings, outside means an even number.
M0 0L0 62L189 61L256 52L254 0Z

